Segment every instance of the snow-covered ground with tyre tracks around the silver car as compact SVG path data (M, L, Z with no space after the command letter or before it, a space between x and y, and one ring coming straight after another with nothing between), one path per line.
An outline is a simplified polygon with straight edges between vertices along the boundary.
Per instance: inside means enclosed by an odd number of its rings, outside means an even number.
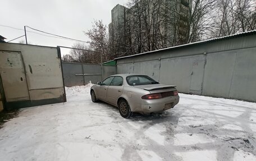
M90 86L22 109L0 129L0 160L256 160L256 103L180 94L161 116L125 119Z

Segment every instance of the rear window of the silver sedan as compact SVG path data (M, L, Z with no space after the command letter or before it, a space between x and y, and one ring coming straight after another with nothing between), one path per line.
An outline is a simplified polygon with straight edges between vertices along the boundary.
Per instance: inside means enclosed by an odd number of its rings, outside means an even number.
M148 85L148 84L158 84L157 81L153 80L149 76L145 75L134 75L126 77L127 84L134 85Z

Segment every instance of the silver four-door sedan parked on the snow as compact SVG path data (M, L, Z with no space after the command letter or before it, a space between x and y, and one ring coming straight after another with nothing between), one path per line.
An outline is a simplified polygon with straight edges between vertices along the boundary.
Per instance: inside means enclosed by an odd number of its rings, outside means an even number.
M122 117L133 112L162 113L179 103L173 85L163 85L147 75L120 74L107 77L90 89L92 101L102 100L118 107Z

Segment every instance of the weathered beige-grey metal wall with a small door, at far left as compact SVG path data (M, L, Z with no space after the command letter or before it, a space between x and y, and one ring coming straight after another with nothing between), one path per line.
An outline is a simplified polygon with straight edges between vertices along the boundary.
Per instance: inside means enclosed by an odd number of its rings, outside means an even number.
M0 43L0 72L6 108L66 101L57 48Z

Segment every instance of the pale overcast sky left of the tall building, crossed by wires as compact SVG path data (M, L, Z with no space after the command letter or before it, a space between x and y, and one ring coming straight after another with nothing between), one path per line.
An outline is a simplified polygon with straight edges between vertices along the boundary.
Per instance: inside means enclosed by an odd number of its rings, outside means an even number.
M116 4L129 0L0 0L0 25L24 29L30 26L48 33L88 41L83 31L92 29L94 20L111 22L111 10ZM33 31L27 29L28 31ZM42 33L40 33L42 34ZM0 35L6 42L24 35L24 31L0 26ZM27 33L28 42L36 45L71 47L75 42ZM25 38L14 40L17 43ZM66 54L67 50L62 50Z

